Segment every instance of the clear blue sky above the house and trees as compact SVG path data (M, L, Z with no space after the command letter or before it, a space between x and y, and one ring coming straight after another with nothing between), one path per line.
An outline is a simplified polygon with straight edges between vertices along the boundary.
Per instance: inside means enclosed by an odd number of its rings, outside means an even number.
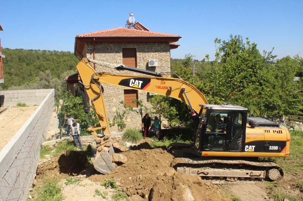
M125 27L133 12L152 31L178 34L172 58L214 59L216 37L230 34L278 58L303 56L303 1L1 1L1 45L74 51L75 36Z

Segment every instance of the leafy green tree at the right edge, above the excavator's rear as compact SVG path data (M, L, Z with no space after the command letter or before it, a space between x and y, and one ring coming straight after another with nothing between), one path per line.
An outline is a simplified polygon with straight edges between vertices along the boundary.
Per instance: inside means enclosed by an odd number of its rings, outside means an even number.
M301 73L301 60L298 55L286 56L263 69L256 101L260 116L277 116L284 121L285 116L303 114L303 81L293 81Z

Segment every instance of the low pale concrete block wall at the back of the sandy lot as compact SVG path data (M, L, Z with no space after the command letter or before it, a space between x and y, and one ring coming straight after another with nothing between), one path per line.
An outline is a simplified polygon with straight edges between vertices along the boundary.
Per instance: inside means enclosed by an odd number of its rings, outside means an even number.
M3 106L16 105L18 102L27 105L39 105L53 89L30 89L0 91L0 104Z

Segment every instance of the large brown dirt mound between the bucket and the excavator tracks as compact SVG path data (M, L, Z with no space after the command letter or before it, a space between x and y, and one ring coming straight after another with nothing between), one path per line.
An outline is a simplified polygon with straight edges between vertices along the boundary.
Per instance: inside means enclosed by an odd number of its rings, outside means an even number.
M144 144L143 147L148 146ZM113 177L128 196L139 195L146 200L231 200L217 186L200 177L177 173L170 167L173 156L162 148L143 148L121 154L127 157L125 164L110 174L95 174L89 179L100 182Z

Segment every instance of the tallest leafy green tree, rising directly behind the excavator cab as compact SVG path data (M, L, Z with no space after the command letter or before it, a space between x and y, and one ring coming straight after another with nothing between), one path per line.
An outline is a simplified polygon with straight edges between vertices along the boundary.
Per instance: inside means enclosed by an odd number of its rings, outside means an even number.
M254 105L260 72L272 64L275 56L271 52L261 55L256 43L248 38L244 43L241 36L230 35L227 41L216 39L215 47L215 62L201 78L202 93L212 104Z

